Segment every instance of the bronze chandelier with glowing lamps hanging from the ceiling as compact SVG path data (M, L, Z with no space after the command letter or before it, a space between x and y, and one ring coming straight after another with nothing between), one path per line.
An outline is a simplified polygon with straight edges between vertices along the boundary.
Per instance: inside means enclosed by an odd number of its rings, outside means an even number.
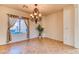
M37 4L35 4L35 8L34 8L33 13L30 14L30 18L31 18L31 20L34 21L36 24L41 21L42 15L41 15L41 13L39 12L39 9L37 8Z

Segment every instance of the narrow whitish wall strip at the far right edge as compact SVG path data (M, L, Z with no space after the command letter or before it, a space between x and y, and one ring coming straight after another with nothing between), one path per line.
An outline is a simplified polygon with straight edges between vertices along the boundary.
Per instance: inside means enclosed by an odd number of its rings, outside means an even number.
M75 5L75 40L74 46L75 48L79 48L79 5Z

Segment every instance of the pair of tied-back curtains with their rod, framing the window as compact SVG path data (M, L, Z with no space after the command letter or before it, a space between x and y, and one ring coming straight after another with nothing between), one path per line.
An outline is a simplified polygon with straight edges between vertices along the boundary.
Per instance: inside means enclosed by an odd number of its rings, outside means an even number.
M26 19L26 18L23 18L23 17L19 17L19 16L14 16L14 15L8 15L8 31L7 31L7 42L11 41L12 40L12 37L11 37L11 32L10 32L10 28L13 27L16 23L17 20L21 20L23 19L25 24L26 24L26 27L27 27L27 38L29 38L29 20Z

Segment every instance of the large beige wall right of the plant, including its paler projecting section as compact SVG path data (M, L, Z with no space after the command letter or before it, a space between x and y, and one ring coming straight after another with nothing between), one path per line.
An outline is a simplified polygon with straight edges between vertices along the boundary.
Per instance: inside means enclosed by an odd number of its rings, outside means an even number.
M74 6L65 7L62 11L46 16L43 19L45 37L63 41L64 44L74 46L74 17Z

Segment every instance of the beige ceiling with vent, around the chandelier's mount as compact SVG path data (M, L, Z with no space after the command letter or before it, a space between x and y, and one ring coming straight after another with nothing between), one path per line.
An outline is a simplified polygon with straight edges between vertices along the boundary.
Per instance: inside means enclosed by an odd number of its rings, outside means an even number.
M25 4L27 7L23 8L24 4L2 4L2 6L17 9L26 13L32 13L34 4ZM64 7L71 6L72 4L38 4L38 9L42 15L48 15L58 10L62 10Z

